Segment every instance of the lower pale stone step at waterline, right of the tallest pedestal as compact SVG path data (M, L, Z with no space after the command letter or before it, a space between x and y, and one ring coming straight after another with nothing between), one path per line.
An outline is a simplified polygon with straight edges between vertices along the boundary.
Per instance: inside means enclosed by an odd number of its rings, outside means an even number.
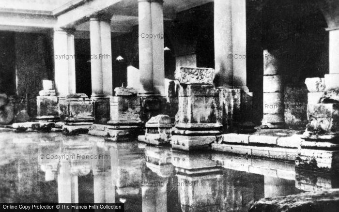
M283 147L258 147L239 144L212 144L212 150L251 155L252 158L294 161L298 149Z

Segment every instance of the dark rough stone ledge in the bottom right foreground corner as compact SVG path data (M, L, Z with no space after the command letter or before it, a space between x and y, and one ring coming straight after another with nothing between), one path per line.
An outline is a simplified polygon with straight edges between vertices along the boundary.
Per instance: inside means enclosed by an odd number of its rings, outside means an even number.
M301 193L287 197L264 198L255 202L249 212L336 212L339 189Z

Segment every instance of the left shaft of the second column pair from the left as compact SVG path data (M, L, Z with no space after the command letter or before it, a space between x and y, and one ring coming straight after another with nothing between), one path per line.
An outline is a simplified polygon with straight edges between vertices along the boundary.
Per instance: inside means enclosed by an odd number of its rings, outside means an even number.
M90 39L91 39L91 78L92 78L92 96L102 97L103 94L103 75L101 55L101 30L100 19L90 19Z

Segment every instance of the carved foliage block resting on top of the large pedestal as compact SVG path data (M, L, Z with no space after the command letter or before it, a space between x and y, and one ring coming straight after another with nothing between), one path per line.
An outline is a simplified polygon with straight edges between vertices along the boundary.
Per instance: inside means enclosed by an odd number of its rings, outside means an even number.
M213 84L215 72L213 68L179 66L175 70L174 77L180 84Z

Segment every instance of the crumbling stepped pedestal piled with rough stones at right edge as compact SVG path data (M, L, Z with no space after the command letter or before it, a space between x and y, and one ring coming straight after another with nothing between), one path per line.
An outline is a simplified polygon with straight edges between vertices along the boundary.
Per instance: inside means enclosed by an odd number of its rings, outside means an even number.
M296 166L311 170L339 170L338 91L327 90L324 78L307 78L308 125ZM326 88L325 88L326 87Z

